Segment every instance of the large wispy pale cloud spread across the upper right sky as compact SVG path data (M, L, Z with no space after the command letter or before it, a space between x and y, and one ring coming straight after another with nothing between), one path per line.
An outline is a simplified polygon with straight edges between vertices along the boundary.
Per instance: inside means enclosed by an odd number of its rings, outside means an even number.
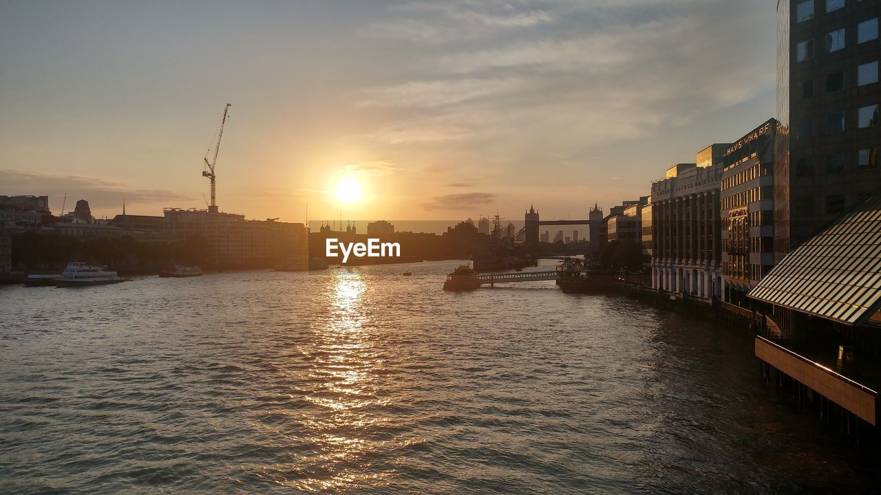
M369 135L381 143L455 144L481 160L492 156L486 151L511 161L540 150L567 159L622 139L672 134L773 91L773 47L747 34L767 13L758 4L489 4L485 11L496 18L544 12L516 36L489 28L494 21L472 12L471 2L406 4L400 11L432 18L436 28L480 25L487 33L434 50L415 78L366 88L355 104L385 109L385 125Z

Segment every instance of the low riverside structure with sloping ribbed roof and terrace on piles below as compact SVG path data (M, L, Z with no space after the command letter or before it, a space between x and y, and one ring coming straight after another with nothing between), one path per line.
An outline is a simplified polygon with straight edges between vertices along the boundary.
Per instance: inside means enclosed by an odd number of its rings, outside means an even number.
M785 339L783 347L756 337L763 371L815 392L800 395L825 416L846 411L848 431L852 425L860 431L863 422L877 427L879 264L881 194L875 193L794 247L749 293L773 308L765 336Z

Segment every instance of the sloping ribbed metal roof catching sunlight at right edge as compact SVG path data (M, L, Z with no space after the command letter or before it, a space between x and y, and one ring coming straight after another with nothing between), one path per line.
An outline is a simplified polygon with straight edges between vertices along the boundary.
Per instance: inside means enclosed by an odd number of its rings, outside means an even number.
M799 245L749 297L858 325L881 307L881 195Z

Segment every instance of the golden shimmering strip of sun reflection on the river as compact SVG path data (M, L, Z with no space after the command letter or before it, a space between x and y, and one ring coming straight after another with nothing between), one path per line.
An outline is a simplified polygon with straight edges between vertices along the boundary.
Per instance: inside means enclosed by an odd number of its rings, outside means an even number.
M315 318L315 360L307 373L312 384L307 402L317 412L303 422L311 432L313 454L296 461L302 491L336 491L388 483L390 472L374 466L386 441L369 440L369 432L389 421L378 409L388 401L377 396L374 329L366 311L367 283L359 270L335 270L329 277L322 317Z

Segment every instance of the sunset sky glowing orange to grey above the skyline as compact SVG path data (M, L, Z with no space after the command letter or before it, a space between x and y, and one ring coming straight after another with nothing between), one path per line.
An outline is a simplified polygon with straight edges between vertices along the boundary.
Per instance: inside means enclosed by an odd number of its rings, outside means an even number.
M0 194L580 218L774 116L774 2L0 1ZM334 194L348 178L359 201Z

